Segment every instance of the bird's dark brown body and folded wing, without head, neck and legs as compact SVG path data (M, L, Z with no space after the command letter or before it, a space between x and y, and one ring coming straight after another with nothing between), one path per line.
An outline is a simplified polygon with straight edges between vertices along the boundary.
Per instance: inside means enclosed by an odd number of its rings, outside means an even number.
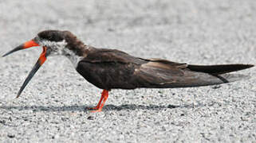
M81 60L77 72L89 83L102 89L134 89L136 87L197 87L228 83L240 79L240 75L218 75L211 72L223 68L233 71L246 68L243 64L235 66L197 66L175 63L161 59L142 59L125 52L112 49L95 49ZM235 69L234 69L235 67Z

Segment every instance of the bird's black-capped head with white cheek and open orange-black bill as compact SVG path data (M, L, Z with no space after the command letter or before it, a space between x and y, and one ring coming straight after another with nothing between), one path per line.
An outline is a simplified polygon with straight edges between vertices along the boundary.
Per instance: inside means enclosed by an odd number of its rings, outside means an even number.
M41 33L38 33L37 36L34 37L32 40L26 41L24 44L20 44L18 47L3 55L2 57L22 49L37 46L41 46L43 48L41 55L37 60L37 63L34 65L32 71L30 72L30 75L28 75L20 91L18 92L17 98L19 95L21 95L23 89L26 87L26 84L30 82L30 79L32 79L33 75L37 72L37 70L41 67L42 64L45 63L47 56L79 55L77 48L74 48L73 45L76 44L76 41L77 38L69 31L45 30Z

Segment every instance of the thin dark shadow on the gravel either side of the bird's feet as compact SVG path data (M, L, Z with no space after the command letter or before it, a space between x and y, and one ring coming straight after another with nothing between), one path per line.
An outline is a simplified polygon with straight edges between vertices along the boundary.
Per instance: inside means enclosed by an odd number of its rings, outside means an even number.
M205 106L205 105L183 105L183 106L175 106L175 105L167 105L167 106L157 106L157 105L136 105L136 104L125 104L121 106L114 105L106 105L103 110L164 110L164 109L173 109L173 108L194 108L197 106ZM0 109L3 110L33 110L33 112L40 111L88 111L89 108L93 106L0 106Z

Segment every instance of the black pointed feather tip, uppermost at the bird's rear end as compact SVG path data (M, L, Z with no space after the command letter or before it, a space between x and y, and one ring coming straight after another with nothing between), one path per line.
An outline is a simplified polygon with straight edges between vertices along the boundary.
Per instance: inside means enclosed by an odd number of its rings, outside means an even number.
M204 72L211 75L221 75L228 72L236 72L246 68L254 67L253 64L219 64L219 65L187 65L193 72Z

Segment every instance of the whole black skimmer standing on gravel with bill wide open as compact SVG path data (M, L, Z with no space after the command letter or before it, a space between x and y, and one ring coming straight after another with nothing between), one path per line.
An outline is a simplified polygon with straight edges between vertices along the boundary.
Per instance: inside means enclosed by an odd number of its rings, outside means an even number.
M131 56L116 49L94 48L77 39L69 31L45 30L31 41L19 45L12 52L41 46L43 51L26 78L17 98L33 75L44 64L47 56L62 55L69 58L77 72L89 83L103 89L100 102L93 112L102 110L112 89L199 87L229 83L242 79L244 75L226 74L246 68L252 64L193 65L162 59L144 59Z

